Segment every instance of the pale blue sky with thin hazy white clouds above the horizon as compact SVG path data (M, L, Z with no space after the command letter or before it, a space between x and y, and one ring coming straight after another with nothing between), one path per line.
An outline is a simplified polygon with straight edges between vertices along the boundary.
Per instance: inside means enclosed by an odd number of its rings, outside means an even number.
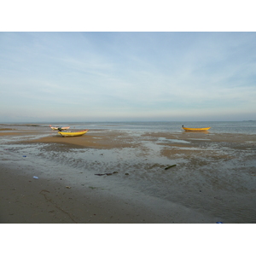
M256 32L0 32L0 123L256 119Z

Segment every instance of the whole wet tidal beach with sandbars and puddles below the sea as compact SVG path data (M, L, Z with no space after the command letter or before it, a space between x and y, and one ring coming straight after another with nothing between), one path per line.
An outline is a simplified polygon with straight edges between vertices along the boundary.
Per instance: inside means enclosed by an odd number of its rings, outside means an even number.
M255 135L9 125L0 139L1 223L256 223Z

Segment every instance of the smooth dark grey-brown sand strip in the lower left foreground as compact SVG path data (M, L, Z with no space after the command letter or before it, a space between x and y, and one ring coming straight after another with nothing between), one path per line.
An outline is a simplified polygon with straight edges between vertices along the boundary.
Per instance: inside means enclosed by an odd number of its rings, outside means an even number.
M61 180L33 179L17 176L1 166L1 223L12 224L162 224L212 223L193 210L169 203L161 211L155 207L163 201L144 196L147 203L127 196L108 193L100 187L86 186L82 190ZM137 196L136 193L132 195ZM150 204L153 203L154 207ZM166 209L165 209L166 208ZM171 211L170 211L171 209Z

